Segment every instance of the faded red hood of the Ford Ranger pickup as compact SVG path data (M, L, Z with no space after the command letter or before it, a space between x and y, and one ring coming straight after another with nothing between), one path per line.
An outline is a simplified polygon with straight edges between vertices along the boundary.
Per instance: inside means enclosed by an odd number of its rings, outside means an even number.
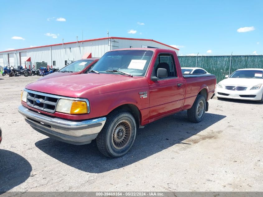
M129 83L133 85L121 84L116 88L110 88L110 84L123 83L125 81L134 80L135 78L142 77L129 77L124 75L115 74L82 74L82 75L70 75L64 77L49 78L37 82L30 83L26 86L26 89L45 92L49 94L55 94L60 96L69 97L83 97L88 91L90 94L102 94L112 91L121 91L124 89L132 88L133 86L143 86L138 84L139 82ZM136 81L136 80L135 80ZM139 85L139 86L138 86Z

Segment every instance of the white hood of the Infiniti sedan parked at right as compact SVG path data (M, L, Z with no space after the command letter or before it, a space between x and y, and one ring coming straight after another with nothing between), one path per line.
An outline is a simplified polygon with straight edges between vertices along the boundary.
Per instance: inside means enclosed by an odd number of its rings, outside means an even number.
M235 86L256 86L259 83L263 83L263 79L249 79L249 78L227 78L221 81L224 86L235 85Z

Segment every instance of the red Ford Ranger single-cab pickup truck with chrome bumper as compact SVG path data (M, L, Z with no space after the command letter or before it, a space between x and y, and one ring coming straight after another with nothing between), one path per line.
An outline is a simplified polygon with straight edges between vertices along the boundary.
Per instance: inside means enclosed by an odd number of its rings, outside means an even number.
M173 50L120 49L88 74L28 84L18 111L42 134L72 144L96 139L106 157L120 157L150 122L182 110L200 122L215 84L212 74L182 74Z

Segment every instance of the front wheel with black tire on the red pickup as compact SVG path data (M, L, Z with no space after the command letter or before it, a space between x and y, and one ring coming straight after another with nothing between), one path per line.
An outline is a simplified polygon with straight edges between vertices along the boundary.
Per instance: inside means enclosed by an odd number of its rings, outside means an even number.
M127 124L127 127L122 124ZM132 147L136 137L136 129L133 115L124 110L114 110L107 116L106 123L96 138L97 147L106 157L121 157ZM116 141L122 139L124 139L123 142Z

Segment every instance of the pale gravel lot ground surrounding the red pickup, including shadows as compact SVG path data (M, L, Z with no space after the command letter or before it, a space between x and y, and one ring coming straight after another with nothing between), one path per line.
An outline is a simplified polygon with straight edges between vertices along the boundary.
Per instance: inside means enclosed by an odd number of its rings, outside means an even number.
M108 159L33 130L17 112L38 77L0 77L0 191L263 191L263 105L209 101L201 123L186 111L139 129L132 149Z

